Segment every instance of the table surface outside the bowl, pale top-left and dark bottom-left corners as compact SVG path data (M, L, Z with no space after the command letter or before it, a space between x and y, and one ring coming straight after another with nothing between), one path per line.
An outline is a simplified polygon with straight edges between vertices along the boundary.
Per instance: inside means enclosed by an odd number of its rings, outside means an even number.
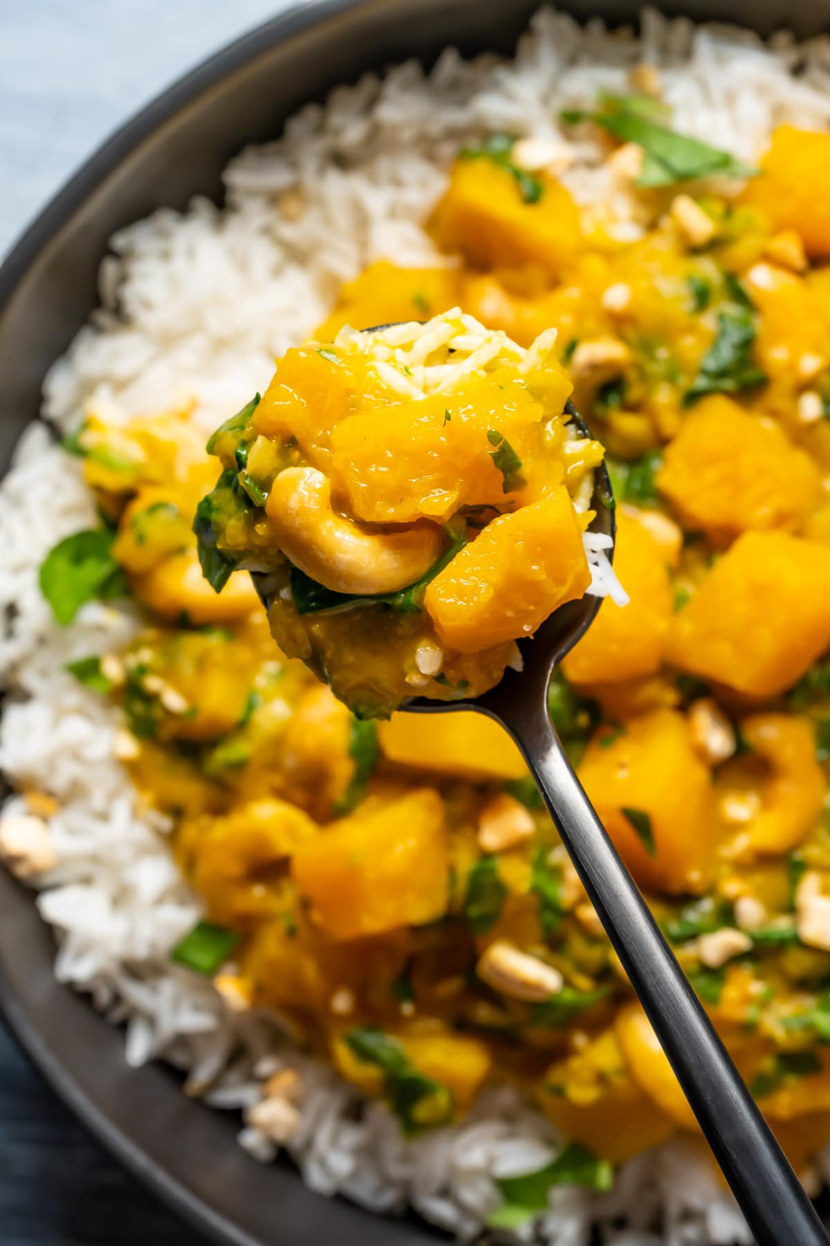
M0 0L0 257L158 91L287 0ZM87 1136L0 1025L2 1246L207 1246Z

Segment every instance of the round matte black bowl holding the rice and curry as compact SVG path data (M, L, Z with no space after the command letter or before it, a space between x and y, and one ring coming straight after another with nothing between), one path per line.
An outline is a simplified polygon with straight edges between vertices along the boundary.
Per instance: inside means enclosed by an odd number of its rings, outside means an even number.
M20 239L0 269L0 462L35 417L50 364L93 309L107 239L154 208L220 196L220 172L246 142L279 133L299 106L368 69L447 44L509 52L538 0L312 0L205 61L128 122ZM633 21L627 0L571 0ZM799 35L830 26L830 0L681 0L669 12ZM287 1164L260 1168L238 1121L188 1100L161 1065L129 1069L123 1037L52 973L55 946L31 893L0 871L0 1006L35 1063L78 1116L172 1207L234 1246L428 1246L414 1220L391 1224L306 1191Z

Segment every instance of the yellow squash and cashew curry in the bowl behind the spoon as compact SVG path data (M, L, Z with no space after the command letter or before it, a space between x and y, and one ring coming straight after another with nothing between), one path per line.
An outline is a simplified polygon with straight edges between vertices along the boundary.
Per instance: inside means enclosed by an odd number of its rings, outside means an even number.
M551 714L801 1170L830 1138L830 137L779 131L764 168L738 202L643 191L623 243L553 178L529 202L459 159L432 222L458 265L372 264L319 338L455 305L524 345L559 330L631 603L604 603ZM506 1079L612 1161L693 1133L509 741L362 723L276 652L244 573L214 594L183 518L215 461L184 419L78 440L153 623L77 673L123 704L121 753L236 937L220 989L407 1130Z

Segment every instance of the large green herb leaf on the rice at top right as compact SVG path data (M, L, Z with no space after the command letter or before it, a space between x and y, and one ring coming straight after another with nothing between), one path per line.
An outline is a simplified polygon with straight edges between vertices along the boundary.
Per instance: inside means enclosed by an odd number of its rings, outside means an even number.
M561 113L566 125L577 121L594 121L625 143L637 143L645 152L643 168L635 182L643 189L672 186L674 182L689 182L713 174L728 177L752 177L757 169L730 156L729 152L709 147L708 143L688 135L678 135L667 126L661 126L642 108L631 106L631 97L621 96L617 101L606 97L606 108L601 112L567 111ZM611 105L611 107L607 107Z

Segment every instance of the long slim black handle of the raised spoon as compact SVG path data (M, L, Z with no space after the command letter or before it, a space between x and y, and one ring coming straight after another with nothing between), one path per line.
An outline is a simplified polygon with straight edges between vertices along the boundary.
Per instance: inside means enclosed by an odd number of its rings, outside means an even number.
M828 1235L574 774L544 709L505 715L759 1246Z

